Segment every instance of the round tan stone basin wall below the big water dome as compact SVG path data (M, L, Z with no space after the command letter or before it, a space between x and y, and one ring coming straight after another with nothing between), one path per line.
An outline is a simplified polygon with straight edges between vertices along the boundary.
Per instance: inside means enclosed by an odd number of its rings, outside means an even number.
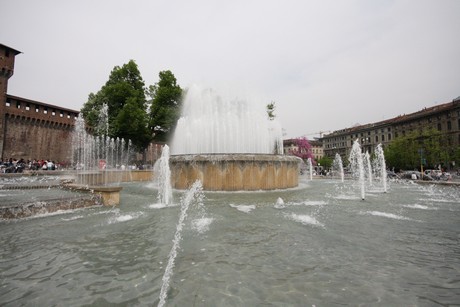
M201 180L207 191L255 191L297 187L294 156L269 154L193 154L170 157L171 184L187 189Z

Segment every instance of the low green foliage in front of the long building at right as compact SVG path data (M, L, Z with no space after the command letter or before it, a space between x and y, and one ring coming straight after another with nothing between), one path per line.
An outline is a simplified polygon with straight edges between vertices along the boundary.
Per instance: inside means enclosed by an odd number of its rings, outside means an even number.
M455 156L446 136L432 128L396 138L385 149L387 165L396 169L418 169L422 162L425 168L435 168L455 161Z

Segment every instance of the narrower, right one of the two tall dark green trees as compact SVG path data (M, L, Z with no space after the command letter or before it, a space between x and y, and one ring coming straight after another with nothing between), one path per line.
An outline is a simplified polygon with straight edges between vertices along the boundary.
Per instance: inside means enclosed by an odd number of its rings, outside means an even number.
M183 91L171 71L161 71L159 77L147 91L152 98L149 126L154 140L166 142L180 117Z

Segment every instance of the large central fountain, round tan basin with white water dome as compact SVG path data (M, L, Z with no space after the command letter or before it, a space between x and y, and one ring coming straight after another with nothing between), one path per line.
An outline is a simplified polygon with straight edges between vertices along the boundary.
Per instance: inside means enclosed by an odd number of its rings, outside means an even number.
M263 105L192 86L171 145L172 186L200 180L212 191L296 187L301 160L282 152L281 126Z

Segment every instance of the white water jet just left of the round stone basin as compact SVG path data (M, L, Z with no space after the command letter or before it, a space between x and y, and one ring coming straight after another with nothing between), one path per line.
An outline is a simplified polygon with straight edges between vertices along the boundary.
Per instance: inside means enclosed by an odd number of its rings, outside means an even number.
M164 205L172 203L171 169L169 168L169 146L163 146L161 157L153 167L158 185L158 201Z

